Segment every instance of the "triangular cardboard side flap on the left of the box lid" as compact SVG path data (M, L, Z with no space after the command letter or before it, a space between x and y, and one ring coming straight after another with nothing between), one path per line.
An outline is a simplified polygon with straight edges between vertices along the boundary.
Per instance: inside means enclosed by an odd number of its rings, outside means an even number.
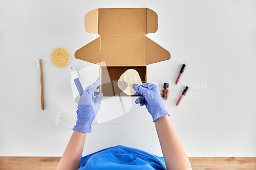
M77 50L75 58L94 64L100 63L100 37Z

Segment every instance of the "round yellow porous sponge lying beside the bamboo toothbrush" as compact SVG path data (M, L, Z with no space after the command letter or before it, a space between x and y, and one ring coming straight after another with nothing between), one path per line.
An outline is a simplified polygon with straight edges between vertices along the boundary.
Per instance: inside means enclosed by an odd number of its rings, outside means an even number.
M70 54L65 48L57 48L52 52L52 63L57 67L65 67L70 62Z

